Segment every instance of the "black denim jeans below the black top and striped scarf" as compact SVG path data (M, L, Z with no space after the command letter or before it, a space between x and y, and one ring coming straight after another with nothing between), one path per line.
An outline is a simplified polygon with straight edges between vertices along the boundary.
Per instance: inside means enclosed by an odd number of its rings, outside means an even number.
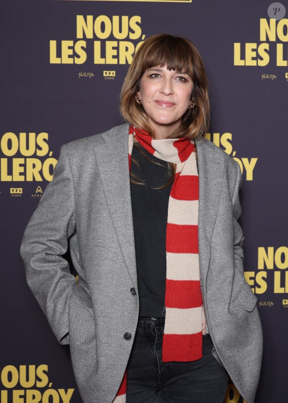
M139 318L128 363L127 403L223 403L226 370L212 355L209 335L203 336L203 358L162 362L164 320Z

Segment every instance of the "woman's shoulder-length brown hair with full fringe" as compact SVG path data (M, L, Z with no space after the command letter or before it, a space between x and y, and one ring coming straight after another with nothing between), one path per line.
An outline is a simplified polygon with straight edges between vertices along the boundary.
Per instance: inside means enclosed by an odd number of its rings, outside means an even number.
M135 101L135 96L140 90L140 80L144 72L156 66L167 66L168 70L184 72L191 77L194 84L191 101L195 102L195 106L184 113L180 127L169 137L204 136L208 129L210 112L206 72L195 45L180 36L151 36L136 52L121 91L120 111L124 119L155 137L146 112L143 106Z

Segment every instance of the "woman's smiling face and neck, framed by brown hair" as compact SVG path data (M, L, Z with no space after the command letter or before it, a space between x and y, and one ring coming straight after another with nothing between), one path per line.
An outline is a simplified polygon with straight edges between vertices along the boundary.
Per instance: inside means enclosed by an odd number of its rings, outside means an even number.
M168 70L166 66L144 72L137 95L156 138L168 137L180 125L192 90L193 81L186 73Z

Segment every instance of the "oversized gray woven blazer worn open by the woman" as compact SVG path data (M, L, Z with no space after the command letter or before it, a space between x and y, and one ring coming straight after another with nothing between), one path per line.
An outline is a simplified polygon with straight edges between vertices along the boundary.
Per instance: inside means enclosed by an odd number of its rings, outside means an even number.
M248 403L262 358L256 297L243 277L238 164L197 142L199 258L215 358ZM78 284L62 257L68 249ZM21 245L28 284L72 365L84 403L111 403L125 372L139 311L128 125L62 147L54 179ZM127 340L125 333L131 333Z

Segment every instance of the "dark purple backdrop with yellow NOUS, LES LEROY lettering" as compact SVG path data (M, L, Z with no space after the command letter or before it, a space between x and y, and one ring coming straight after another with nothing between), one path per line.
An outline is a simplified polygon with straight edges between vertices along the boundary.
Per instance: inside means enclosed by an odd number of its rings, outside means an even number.
M145 38L199 48L207 138L240 165L245 278L264 356L256 402L285 402L288 366L288 2L2 0L0 402L81 403L69 348L26 285L19 245L60 146L122 122L119 93ZM243 399L229 384L225 403Z

